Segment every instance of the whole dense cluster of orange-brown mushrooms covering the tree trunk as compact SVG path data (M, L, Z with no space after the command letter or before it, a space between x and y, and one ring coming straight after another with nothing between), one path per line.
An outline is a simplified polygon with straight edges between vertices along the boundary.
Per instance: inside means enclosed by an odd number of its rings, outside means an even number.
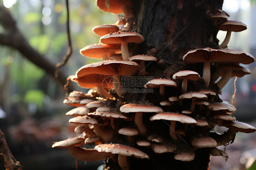
M227 157L224 151L216 147L234 140L238 131L256 131L251 125L236 121L231 115L236 108L218 97L218 90L230 77L250 74L250 70L239 66L239 63L250 64L255 59L238 50L210 47L191 50L183 56L184 65L204 63L202 75L193 70L180 70L169 79L156 78L145 82L142 88L154 89L154 94L158 93L161 100L164 99L159 103L147 98L146 94L143 94L143 101L126 101L126 96L131 95L122 90L122 76L147 75L145 61L153 62L157 58L133 54L132 51L136 50L129 49L128 43L142 43L144 40L142 35L123 29L132 28L130 20L133 15L129 0L96 2L99 8L107 12L123 12L124 26L98 25L93 28L93 32L101 36L101 44L88 45L80 53L102 58L103 61L84 65L72 76L80 87L93 90L88 94L73 91L64 100L65 104L76 107L66 115L74 116L69 122L78 125L74 132L80 136L56 142L52 147L67 147L79 160L107 158L118 165L117 169L129 170L136 169L133 161L147 163L151 158L157 159L159 154L168 153L169 160L183 162L193 161L199 152ZM214 16L211 15L211 18ZM215 17L215 20L222 19ZM217 21L215 25L218 25ZM120 52L122 58L110 60L111 55ZM210 72L211 67L217 66L220 67L217 73ZM222 78L213 83L213 77L218 76ZM187 90L189 85L202 80L205 81L203 89ZM174 89L175 95L167 96L167 92ZM225 126L228 130L223 134L216 133L216 125ZM85 144L94 145L95 148L85 149Z

